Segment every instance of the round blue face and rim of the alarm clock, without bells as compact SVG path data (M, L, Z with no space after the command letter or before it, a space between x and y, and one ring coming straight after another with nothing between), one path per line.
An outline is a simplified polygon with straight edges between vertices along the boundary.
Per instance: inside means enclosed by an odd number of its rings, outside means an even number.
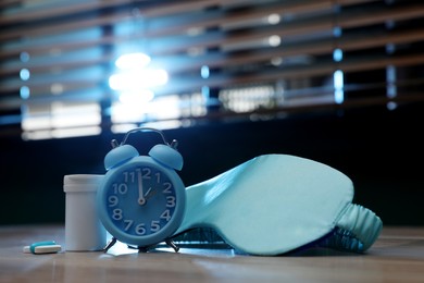
M117 239L138 246L157 244L180 224L185 193L174 171L154 162L116 169L102 190L103 224Z

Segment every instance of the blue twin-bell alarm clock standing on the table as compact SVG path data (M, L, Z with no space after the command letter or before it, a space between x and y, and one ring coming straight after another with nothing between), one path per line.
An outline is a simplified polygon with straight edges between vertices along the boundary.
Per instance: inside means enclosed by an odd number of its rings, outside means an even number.
M152 131L163 144L153 146L148 156L125 144L129 134ZM171 236L179 227L186 205L185 186L175 170L182 170L183 157L177 142L169 144L159 130L138 127L126 133L123 142L112 140L104 158L107 173L98 188L97 208L100 221L112 235L108 251L116 241L146 251L166 242L175 251Z

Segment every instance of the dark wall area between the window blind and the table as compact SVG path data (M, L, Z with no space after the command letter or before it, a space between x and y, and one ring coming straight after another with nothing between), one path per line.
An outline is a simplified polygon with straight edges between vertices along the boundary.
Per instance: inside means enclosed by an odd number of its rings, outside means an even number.
M423 103L392 111L369 107L262 122L215 122L164 133L179 142L185 158L179 175L187 186L259 155L294 155L348 175L356 188L354 202L376 212L385 224L423 225ZM144 155L160 142L153 134L137 135L128 143ZM110 140L122 137L1 138L0 224L63 223L63 176L103 174Z

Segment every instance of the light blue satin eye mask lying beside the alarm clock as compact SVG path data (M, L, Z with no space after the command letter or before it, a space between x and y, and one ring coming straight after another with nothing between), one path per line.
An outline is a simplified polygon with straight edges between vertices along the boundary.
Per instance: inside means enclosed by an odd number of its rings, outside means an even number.
M319 239L362 253L383 226L374 212L352 204L348 176L295 156L260 156L186 192L177 241L197 241L199 234L190 231L208 227L251 255L280 255Z

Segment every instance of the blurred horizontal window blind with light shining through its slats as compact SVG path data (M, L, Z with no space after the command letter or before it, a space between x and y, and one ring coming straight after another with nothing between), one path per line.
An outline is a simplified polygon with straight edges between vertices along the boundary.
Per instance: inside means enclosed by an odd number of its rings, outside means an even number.
M2 135L54 138L422 101L424 4L373 0L8 0ZM115 60L167 81L132 100ZM152 78L138 76L149 83Z

